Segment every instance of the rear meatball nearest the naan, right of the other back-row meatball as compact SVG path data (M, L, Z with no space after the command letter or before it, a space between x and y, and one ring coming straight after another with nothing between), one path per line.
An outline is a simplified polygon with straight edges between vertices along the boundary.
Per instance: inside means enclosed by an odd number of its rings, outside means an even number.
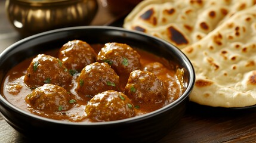
M140 69L140 55L125 43L106 43L98 52L96 61L109 63L120 76L127 75L133 70Z

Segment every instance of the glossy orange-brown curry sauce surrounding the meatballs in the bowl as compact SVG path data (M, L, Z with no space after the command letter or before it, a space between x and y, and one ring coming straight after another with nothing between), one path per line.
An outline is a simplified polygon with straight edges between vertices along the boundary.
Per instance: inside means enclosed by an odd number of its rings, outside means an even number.
M95 52L100 51L100 48L104 45L102 44L92 44L92 48L94 48ZM159 63L162 63L165 65L165 67L168 70L165 70L164 74L161 72L160 74L157 74L156 76L159 77L159 79L164 79L165 84L168 86L168 95L165 102L161 102L159 104L140 104L140 108L136 108L136 116L139 116L140 114L149 113L151 111L157 110L158 108L161 108L175 100L177 100L178 97L183 92L182 84L180 83L182 79L180 77L182 76L183 72L177 72L173 67L174 65L170 65L167 60L164 58L158 57L156 55L153 55L149 52L143 51L141 49L134 48L138 54L140 54L140 63L141 63L141 70L144 69L144 66L149 63L154 63L158 61ZM57 57L59 49L54 49L52 51L47 51L44 54L52 55L54 57ZM39 116L47 117L50 119L56 119L56 120L66 120L70 122L91 122L85 113L85 106L87 105L87 102L92 98L88 97L87 100L78 100L73 107L65 112L58 111L54 114L47 114L44 113L44 111L35 110L26 103L24 98L27 94L32 92L32 90L27 87L23 83L24 75L26 74L27 67L29 67L30 62L32 61L34 57L28 58L27 60L22 61L21 63L17 64L15 67L13 67L5 76L4 81L1 85L1 91L4 94L3 96L11 102L11 104L14 104L16 107L21 108L24 111L38 114ZM178 75L180 74L180 75ZM79 98L78 94L75 91L76 87L76 78L78 76L73 76L72 79L72 85L70 86L70 89L66 89L68 92L71 93L72 98ZM121 88L124 89L124 86L127 83L127 80L120 77L119 81Z

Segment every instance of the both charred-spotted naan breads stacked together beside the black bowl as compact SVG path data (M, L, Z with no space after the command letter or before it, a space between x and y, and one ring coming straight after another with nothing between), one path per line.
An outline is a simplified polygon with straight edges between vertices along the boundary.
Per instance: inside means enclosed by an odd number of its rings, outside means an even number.
M180 48L196 71L190 100L212 107L256 104L255 0L144 0L124 28Z

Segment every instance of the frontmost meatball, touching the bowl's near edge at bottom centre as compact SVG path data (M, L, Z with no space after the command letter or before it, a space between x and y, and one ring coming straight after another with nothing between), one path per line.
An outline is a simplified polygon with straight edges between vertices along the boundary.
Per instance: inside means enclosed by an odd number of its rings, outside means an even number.
M135 116L131 100L118 91L104 91L95 95L88 101L85 112L93 122L121 120Z

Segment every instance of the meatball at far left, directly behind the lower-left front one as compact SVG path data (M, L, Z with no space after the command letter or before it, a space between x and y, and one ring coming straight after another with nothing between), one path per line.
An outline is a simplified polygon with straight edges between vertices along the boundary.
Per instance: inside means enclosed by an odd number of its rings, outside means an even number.
M72 76L66 66L58 58L45 54L33 58L24 76L24 83L32 89L45 83L64 87L68 86L71 80Z

